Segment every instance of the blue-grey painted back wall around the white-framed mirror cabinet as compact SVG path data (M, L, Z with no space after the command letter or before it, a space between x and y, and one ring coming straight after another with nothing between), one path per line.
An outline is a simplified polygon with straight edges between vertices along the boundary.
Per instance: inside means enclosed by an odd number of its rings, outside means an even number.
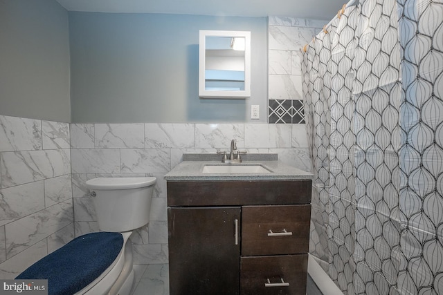
M266 122L265 17L69 12L72 122ZM200 99L199 30L251 31L248 99Z

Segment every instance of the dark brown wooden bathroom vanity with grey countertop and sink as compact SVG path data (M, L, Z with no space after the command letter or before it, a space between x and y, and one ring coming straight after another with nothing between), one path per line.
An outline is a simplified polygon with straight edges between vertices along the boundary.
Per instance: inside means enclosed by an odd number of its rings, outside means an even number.
M306 294L311 174L208 166L227 165L183 161L165 175L170 294Z

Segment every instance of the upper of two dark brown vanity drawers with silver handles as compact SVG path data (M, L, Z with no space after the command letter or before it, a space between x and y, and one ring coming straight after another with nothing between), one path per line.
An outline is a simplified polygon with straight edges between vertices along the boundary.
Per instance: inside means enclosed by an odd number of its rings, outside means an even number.
M242 207L242 256L305 254L311 205Z

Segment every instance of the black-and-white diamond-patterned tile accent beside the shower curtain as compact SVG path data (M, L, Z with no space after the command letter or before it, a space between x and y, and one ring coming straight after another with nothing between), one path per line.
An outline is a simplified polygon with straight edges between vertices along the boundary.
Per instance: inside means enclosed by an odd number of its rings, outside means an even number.
M305 108L300 99L269 99L269 124L305 124Z

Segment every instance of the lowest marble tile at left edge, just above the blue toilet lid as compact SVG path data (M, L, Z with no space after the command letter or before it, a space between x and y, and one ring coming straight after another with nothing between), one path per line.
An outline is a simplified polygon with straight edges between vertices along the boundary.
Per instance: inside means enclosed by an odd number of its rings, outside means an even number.
M0 264L0 278L13 279L48 254L46 238Z

